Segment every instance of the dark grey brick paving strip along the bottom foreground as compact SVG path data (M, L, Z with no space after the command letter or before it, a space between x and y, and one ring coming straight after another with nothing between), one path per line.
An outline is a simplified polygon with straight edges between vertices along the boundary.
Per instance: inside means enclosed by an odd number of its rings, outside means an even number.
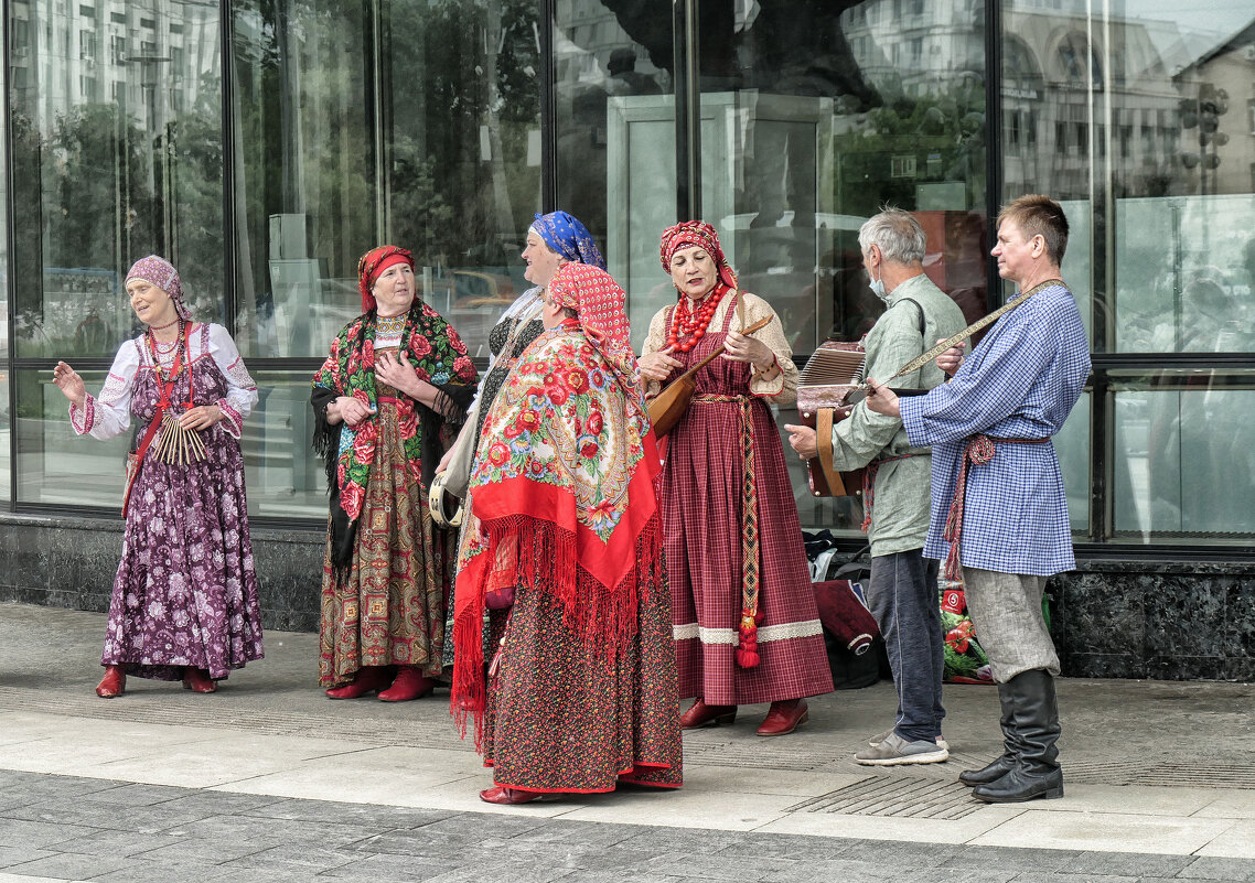
M0 770L0 883L1255 880L1255 862L599 824Z

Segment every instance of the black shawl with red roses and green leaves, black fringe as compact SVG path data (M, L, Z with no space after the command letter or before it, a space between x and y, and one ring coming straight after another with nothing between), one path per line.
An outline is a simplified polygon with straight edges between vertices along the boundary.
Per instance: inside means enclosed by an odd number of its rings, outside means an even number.
M374 311L349 322L331 342L330 355L314 375L315 400L351 395L370 405L373 411L378 409L374 341ZM441 418L456 418L459 413L464 418L466 408L474 394L476 370L458 332L444 321L443 316L420 301L415 301L405 316L400 351L409 359L418 376L439 388L448 400L439 414L423 408L408 396L397 400L405 459L410 464L414 480L418 482L428 478L423 475L423 448L430 439L423 438L424 431L439 431L443 428ZM319 413L318 406L315 413ZM319 413L319 416L323 414ZM459 423L461 419L452 421ZM328 459L328 479L330 482L334 478L339 509L351 533L358 516L361 514L361 503L370 480L378 426L371 415L356 426L339 424L333 429L339 430L339 438L335 439L334 433L316 435L315 450ZM335 450L331 450L333 441L336 443ZM443 439L444 447L449 443L452 434L448 439ZM333 512L333 521L335 514ZM344 542L335 544L340 547L340 553L334 557L340 559L336 563L343 564Z

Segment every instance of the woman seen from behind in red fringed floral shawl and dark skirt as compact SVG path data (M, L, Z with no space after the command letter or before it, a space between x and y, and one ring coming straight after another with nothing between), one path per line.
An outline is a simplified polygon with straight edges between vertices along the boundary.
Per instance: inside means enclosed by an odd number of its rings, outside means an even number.
M545 332L497 394L471 474L452 710L463 732L474 719L496 781L479 794L488 803L619 781L678 788L660 463L624 292L604 271L569 263L542 317Z

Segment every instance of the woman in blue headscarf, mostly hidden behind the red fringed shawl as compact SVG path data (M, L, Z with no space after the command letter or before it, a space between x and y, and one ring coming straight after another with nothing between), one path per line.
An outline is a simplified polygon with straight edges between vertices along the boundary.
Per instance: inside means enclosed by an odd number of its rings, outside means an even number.
M479 381L474 406L462 426L458 440L437 467L438 473L449 467L463 445L474 445L474 454L478 455L484 420L488 411L492 410L492 403L497 398L498 390L506 383L510 369L518 361L523 350L545 330L545 324L541 321L541 306L545 291L558 267L563 263L587 263L597 270L606 268L606 260L597 250L597 243L592 241L592 233L589 232L589 228L580 223L574 214L561 211L536 214L532 226L527 228L523 262L527 265L523 268L523 278L531 282L532 287L510 305L510 309L502 314L501 320L488 332L488 351L491 352L488 371ZM472 433L472 435L462 438L467 433ZM467 467L466 472L469 474L469 464L473 458L466 458L464 450L461 454L463 454L462 460ZM451 482L449 487L453 484L461 483ZM452 605L449 610L452 611ZM452 632L447 633L452 635ZM453 642L449 641L444 645L446 665L452 665L452 653Z

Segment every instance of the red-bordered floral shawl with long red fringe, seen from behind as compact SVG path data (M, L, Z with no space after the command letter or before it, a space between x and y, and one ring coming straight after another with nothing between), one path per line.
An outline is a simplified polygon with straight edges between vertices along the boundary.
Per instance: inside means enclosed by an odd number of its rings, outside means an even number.
M458 552L452 711L476 736L484 709L484 595L531 587L585 641L635 628L636 602L661 586L649 418L576 320L537 337L497 394L471 470Z

